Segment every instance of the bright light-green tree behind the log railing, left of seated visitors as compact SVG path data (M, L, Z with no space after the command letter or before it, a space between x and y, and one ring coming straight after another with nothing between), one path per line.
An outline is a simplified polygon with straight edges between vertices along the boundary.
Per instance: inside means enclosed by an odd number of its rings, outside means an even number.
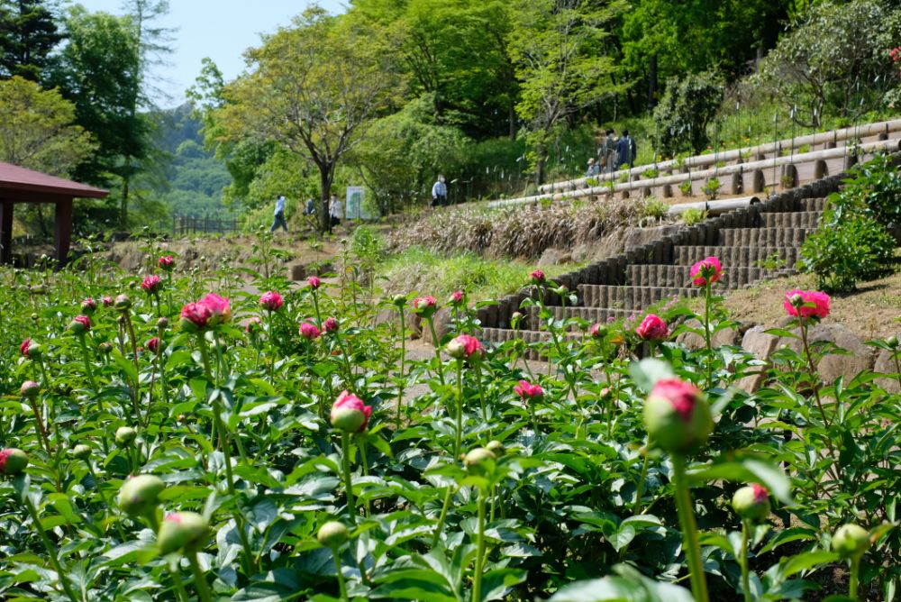
M623 5L590 0L517 0L510 52L520 79L517 111L527 121L530 158L544 181L548 145L566 120L622 91L609 76L614 59L603 52L607 26Z

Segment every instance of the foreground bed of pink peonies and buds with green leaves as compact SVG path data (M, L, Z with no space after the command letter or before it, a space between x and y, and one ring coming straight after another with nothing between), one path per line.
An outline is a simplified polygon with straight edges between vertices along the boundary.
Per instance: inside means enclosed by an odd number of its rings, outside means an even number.
M679 324L555 320L543 298L571 292L523 274L541 371L479 340L462 291L78 268L3 273L3 597L894 596L901 405L869 371L819 378L842 352L807 340L822 293L770 300L798 345L749 394L762 362L711 343L734 326L716 258ZM407 318L433 333L441 306L451 333L408 357Z

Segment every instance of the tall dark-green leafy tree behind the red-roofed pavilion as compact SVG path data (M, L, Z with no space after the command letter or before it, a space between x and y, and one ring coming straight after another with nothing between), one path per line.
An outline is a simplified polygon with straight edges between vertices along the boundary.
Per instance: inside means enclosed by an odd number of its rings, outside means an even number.
M97 141L76 175L119 184L119 220L127 228L129 183L150 154L150 123L135 108L141 98L140 40L129 17L88 13L81 6L69 10L66 32L56 82L75 104L78 123Z

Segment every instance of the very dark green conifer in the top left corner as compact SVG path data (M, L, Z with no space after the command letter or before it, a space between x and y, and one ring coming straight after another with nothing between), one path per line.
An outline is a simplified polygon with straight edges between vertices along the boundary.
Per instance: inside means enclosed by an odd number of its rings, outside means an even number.
M46 2L0 0L0 78L43 81L62 39Z

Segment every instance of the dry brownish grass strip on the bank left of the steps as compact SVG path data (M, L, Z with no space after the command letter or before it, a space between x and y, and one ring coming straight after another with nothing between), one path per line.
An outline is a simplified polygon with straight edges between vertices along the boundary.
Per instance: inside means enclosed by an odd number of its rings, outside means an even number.
M646 205L637 199L601 198L498 209L454 207L409 224L389 245L394 251L420 245L446 254L538 258L547 249L592 242L636 225L647 215Z

